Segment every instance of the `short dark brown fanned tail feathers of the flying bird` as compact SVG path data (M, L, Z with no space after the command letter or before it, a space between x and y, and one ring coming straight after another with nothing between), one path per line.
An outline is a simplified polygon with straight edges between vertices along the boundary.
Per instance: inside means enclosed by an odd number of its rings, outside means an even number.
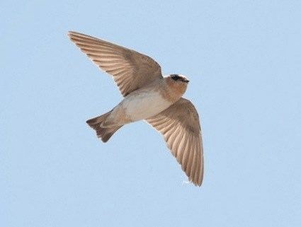
M89 124L89 126L96 131L97 137L101 138L101 140L106 143L110 139L110 136L113 136L113 134L120 129L121 126L115 126L110 128L104 128L101 127L101 123L106 120L106 118L110 115L110 112L107 112L104 115L101 115L99 117L91 118L90 120L87 120L86 123Z

